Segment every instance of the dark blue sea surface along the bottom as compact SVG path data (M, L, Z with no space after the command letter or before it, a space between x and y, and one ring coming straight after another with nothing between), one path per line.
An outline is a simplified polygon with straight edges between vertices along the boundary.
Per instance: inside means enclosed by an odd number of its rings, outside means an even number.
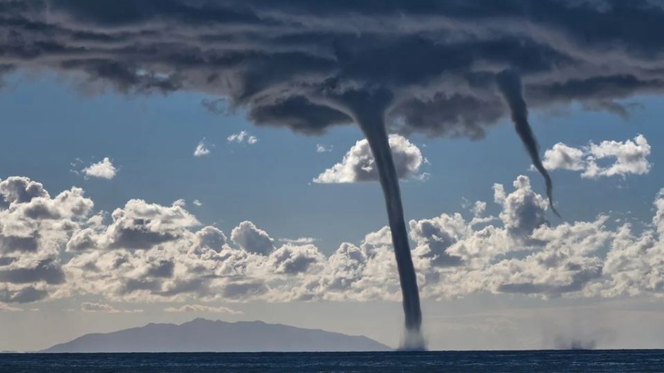
M664 372L664 350L0 354L0 372Z

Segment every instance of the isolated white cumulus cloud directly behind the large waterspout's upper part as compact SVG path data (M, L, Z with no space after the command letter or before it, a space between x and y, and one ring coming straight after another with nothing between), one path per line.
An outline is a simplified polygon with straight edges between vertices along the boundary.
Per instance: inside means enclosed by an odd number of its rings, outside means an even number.
M424 157L420 149L401 135L389 135L389 147L394 157L398 178L422 177L417 175ZM424 176L426 178L426 176ZM378 170L371 154L369 142L360 140L349 149L344 159L313 179L321 184L377 181Z

